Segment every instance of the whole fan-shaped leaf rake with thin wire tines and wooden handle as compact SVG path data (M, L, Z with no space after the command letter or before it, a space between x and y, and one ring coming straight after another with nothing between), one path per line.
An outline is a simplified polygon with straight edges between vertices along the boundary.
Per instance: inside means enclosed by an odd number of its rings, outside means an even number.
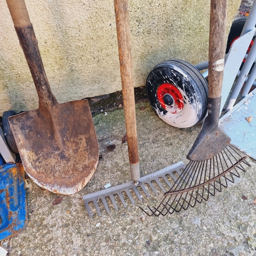
M245 171L242 157L229 145L230 138L219 127L221 90L223 82L224 55L226 45L227 0L210 2L209 33L209 76L208 76L208 115L194 145L187 155L190 160L174 186L165 193L158 207L148 206L147 215L166 215L180 211L188 206L194 207L196 202L208 200L227 181L234 182L239 177L238 169ZM222 31L223 30L223 31Z

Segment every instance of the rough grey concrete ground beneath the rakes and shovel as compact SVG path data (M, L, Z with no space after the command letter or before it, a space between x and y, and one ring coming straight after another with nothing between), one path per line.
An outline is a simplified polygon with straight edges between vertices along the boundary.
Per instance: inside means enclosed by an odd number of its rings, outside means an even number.
M183 161L201 129L169 126L147 102L136 104L141 176ZM165 217L148 217L138 207L120 202L110 214L101 208L101 217L92 207L90 219L82 196L129 182L130 166L123 109L94 116L100 147L96 172L77 194L59 197L28 179L28 227L13 238L10 255L256 255L256 161L241 178L207 202ZM115 144L109 151L107 146ZM143 207L162 198L143 194Z

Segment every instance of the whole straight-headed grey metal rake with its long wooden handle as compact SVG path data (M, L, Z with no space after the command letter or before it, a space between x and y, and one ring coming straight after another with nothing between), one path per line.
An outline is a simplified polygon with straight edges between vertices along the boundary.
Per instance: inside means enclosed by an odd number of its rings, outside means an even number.
M140 178L128 0L114 0L114 6L122 81L125 127L132 181L115 187L106 188L89 195L84 195L83 202L86 205L90 218L92 218L92 212L89 204L94 204L98 215L101 215L100 204L102 203L105 210L110 212L108 206L109 199L111 199L111 202L115 206L116 210L118 210L116 199L121 201L124 207L126 207L126 196L133 204L135 204L135 200L133 199L132 194L135 194L136 198L142 201L142 196L140 195L138 188L141 188L143 190L143 194L145 194L147 197L150 197L150 194L146 189L147 186L149 186L156 195L158 187L160 187L162 191L165 192L167 190L165 190L166 186L164 187L160 180L164 180L169 189L173 186L178 176L181 175L180 169L185 167L182 162L179 162ZM154 184L157 184L157 186L155 187ZM124 194L126 194L126 196Z

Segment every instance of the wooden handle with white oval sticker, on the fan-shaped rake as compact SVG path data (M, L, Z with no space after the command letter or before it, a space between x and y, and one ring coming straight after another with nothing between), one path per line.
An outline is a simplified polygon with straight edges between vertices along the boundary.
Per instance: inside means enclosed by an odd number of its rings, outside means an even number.
M221 97L226 49L227 0L210 1L209 98Z

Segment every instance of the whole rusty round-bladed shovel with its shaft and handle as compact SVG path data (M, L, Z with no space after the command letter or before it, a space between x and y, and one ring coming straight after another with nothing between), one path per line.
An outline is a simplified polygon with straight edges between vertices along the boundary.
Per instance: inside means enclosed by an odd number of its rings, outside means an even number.
M58 103L50 89L24 0L7 0L39 107L9 118L24 168L39 186L70 195L95 172L99 147L87 100Z

